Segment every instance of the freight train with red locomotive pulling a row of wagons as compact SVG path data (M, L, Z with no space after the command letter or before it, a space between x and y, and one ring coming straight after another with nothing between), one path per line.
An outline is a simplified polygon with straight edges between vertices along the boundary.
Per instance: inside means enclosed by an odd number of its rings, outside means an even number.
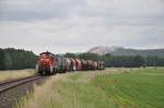
M105 70L105 63L103 61L65 58L51 52L42 52L36 63L36 72L40 75L87 70Z

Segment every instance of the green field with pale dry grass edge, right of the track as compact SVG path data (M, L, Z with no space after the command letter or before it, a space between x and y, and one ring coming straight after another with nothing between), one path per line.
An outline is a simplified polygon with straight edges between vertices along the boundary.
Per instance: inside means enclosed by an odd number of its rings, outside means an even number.
M106 69L51 76L16 108L163 108L164 68Z

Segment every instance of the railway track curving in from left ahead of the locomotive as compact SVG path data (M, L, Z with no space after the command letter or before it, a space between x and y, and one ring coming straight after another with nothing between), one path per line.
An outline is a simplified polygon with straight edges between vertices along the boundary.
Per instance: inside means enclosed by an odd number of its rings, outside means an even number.
M44 76L32 76L32 77L25 77L25 79L19 79L19 80L12 80L12 81L5 81L0 82L0 94L7 92L8 89L11 89L13 87L20 86L22 84L33 82L39 79L43 79Z

